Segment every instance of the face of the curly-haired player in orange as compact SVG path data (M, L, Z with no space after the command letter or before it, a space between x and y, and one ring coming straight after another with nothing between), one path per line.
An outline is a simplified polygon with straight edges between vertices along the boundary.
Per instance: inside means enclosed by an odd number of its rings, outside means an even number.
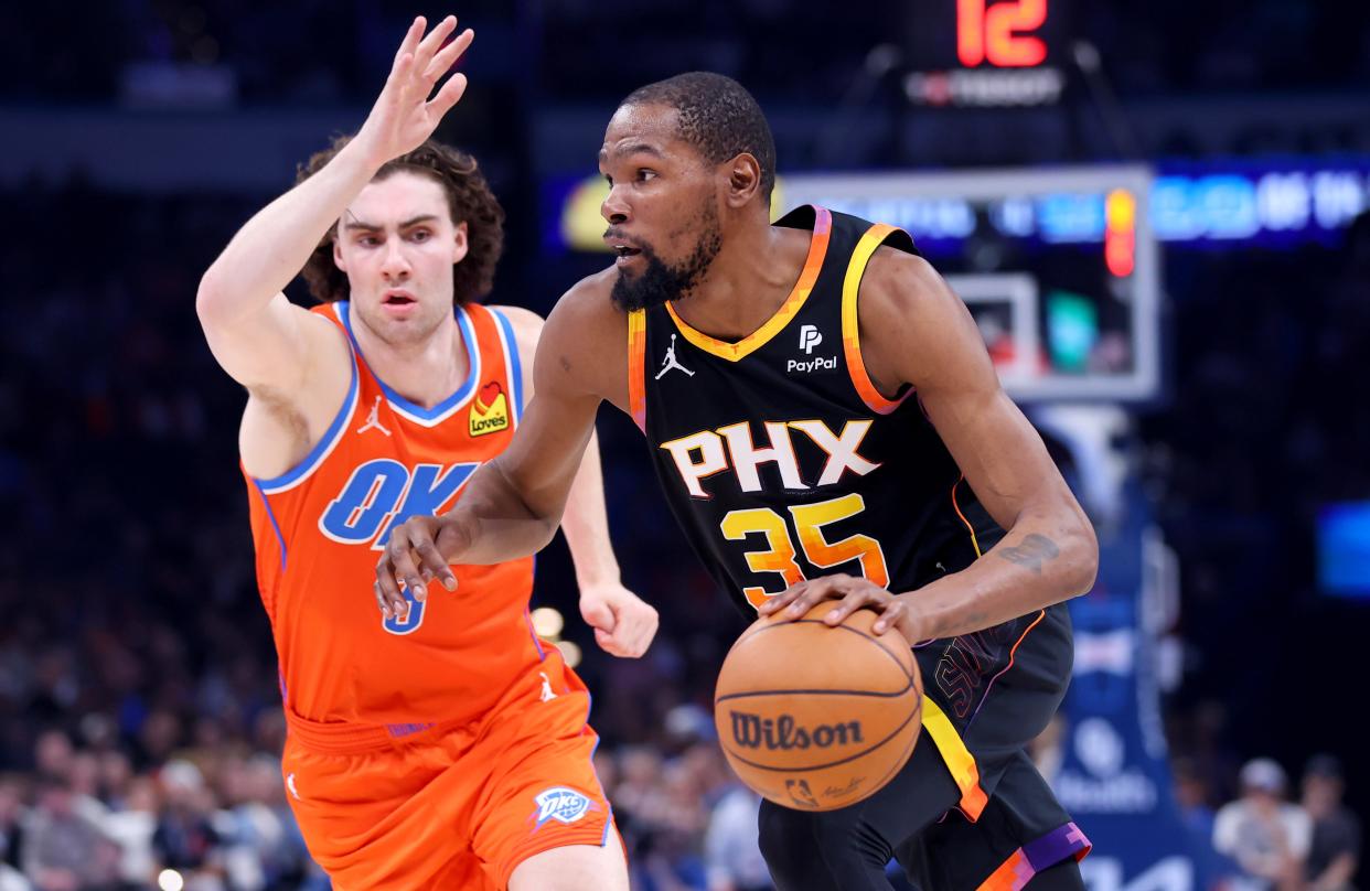
M348 205L333 261L360 320L388 344L411 344L452 315L452 264L466 249L466 223L452 222L443 186L401 171Z

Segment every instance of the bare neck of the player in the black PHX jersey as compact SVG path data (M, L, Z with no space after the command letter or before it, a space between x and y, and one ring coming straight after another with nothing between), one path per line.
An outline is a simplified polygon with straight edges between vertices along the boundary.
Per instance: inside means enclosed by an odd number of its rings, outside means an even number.
M723 238L708 272L673 305L690 327L736 342L775 315L804 270L811 233L748 226Z

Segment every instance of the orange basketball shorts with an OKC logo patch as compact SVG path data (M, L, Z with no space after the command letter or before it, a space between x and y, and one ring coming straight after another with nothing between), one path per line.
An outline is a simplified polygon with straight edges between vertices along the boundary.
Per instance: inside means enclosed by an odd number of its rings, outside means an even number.
M608 838L588 713L585 686L549 647L471 724L338 732L289 716L286 795L337 891L503 891L529 857Z

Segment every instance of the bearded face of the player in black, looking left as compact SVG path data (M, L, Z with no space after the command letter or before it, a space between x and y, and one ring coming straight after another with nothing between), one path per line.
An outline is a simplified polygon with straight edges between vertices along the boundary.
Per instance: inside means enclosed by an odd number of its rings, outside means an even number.
M623 105L604 133L600 212L616 253L612 298L627 309L684 297L722 246L718 170L680 138L675 118L663 105Z

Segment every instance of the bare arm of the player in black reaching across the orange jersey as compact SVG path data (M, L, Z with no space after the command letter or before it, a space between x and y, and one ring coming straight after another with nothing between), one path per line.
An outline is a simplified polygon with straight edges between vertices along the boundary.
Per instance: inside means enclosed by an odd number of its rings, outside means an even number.
M429 579L455 586L453 563L503 563L552 541L600 402L627 402L627 320L597 278L567 292L548 316L533 398L508 449L471 475L452 511L390 532L375 568L382 612L407 608L400 582L422 601Z

